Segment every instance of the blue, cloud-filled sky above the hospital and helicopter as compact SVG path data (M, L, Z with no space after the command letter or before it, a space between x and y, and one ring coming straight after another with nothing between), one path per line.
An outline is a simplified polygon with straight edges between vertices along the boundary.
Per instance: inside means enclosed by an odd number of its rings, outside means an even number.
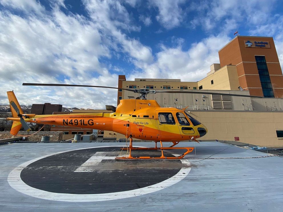
M0 0L0 105L105 109L118 75L198 81L238 30L272 36L283 65L282 0Z

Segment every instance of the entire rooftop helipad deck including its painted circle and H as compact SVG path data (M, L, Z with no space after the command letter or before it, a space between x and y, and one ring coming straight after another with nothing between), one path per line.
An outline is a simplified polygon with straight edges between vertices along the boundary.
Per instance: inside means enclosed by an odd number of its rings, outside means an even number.
M125 154L121 146L124 143L0 146L0 210L282 211L281 157L201 142L196 154L181 161L114 160Z

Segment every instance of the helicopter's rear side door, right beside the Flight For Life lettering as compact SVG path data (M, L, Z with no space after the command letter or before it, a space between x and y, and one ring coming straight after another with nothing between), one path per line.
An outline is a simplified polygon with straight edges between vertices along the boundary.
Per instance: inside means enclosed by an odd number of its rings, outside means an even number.
M180 130L173 113L157 111L157 117L161 140L164 137L173 138L175 140L181 138Z

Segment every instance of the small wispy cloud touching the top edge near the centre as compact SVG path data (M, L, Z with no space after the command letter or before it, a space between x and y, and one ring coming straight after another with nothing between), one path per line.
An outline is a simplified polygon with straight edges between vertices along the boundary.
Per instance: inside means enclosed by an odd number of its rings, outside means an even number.
M152 0L149 3L158 8L159 14L156 20L166 29L177 27L183 21L185 12L181 5L185 3L185 0Z

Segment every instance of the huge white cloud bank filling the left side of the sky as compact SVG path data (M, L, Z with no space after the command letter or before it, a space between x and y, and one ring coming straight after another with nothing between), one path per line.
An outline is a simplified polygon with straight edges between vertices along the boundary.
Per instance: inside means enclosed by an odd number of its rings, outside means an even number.
M137 31L131 17L118 1L84 1L91 20L66 15L63 1L53 1L46 11L37 1L4 1L0 11L0 72L4 91L14 90L21 104L60 103L67 107L105 108L115 105L117 91L76 87L26 87L23 82L117 86L100 58L124 52L133 60L153 60L151 49L123 31ZM97 10L92 9L97 6ZM7 8L7 10L5 9ZM9 12L21 10L24 16ZM93 14L93 13L98 14ZM115 19L115 20L114 20ZM5 95L0 104L8 104Z

